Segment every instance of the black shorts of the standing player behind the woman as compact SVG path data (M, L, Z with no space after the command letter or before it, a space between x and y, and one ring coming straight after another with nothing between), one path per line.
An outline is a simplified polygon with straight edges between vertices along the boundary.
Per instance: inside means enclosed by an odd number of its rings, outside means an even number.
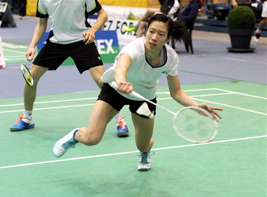
M74 63L80 74L95 66L103 65L96 44L85 45L81 40L70 44L52 43L49 39L34 59L33 64L47 67L48 70L56 70L68 57L74 60Z

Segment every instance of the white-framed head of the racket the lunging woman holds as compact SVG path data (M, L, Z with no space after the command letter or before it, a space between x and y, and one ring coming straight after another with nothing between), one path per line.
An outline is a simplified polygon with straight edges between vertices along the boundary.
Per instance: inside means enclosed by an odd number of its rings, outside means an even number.
M217 135L219 124L208 111L189 106L182 108L174 115L173 129L178 136L186 141L207 143Z

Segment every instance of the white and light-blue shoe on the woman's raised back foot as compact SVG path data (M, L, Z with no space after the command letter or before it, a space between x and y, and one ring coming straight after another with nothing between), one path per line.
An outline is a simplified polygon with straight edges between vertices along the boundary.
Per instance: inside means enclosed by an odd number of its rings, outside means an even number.
M53 147L53 154L55 157L61 157L67 152L69 148L74 148L78 143L74 140L74 134L79 130L79 128L74 128L69 134L65 137L58 140Z

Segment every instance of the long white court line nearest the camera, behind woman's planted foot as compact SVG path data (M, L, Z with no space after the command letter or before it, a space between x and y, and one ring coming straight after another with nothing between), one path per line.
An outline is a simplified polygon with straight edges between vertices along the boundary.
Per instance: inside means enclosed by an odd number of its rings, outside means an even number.
M265 135L265 136L247 137L247 138L238 138L238 139L229 139L229 140L221 140L221 141L212 141L212 142L203 143L203 144L187 144L187 145L182 145L182 146L170 146L170 147L156 148L156 149L151 149L151 150L153 151L153 150L182 148L182 147L188 147L188 146L200 146L200 145L206 145L206 144L217 144L217 143L228 142L228 141L239 141L239 140L255 139L255 138L262 138L262 137L267 137L267 135ZM94 155L94 156L88 156L88 157L77 157L77 158L70 158L70 159L52 160L52 161L46 161L46 162L35 162L35 163L28 163L28 164L9 165L9 166L2 166L2 167L0 167L0 169L11 168L11 167L21 167L21 166L28 166L28 165L54 163L54 162L64 162L64 161L71 161L71 160L78 160L78 159L89 159L89 158L95 158L95 157L106 157L106 156L129 154L129 153L135 153L135 152L139 152L139 151L129 151L129 152L120 152L120 153L111 153L111 154L101 154L101 155Z

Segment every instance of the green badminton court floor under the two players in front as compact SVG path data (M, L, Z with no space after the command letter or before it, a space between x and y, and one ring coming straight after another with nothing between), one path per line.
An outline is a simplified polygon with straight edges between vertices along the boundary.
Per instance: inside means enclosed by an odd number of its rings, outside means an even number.
M54 143L87 126L99 91L37 96L36 127L10 132L23 113L23 98L0 99L0 196L264 196L266 197L266 85L216 82L183 85L197 102L224 109L220 130L206 144L191 144L172 129L172 115L157 108L152 169L139 172L131 114L119 138L111 121L96 146L77 144L61 158ZM168 87L158 104L178 111ZM104 114L103 114L104 115Z

